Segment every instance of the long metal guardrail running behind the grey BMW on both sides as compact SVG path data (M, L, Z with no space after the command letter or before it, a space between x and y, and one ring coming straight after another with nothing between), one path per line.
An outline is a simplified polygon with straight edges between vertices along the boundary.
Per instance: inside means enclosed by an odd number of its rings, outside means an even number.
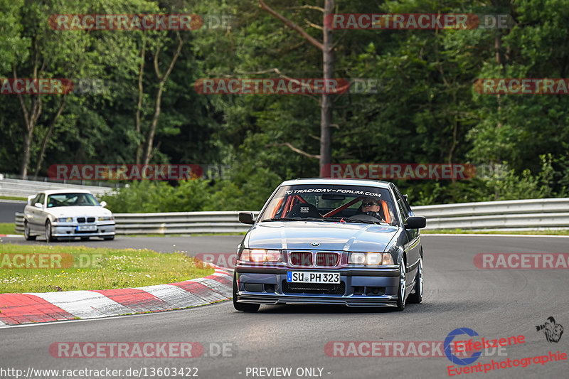
M489 201L413 207L427 218L427 230L569 229L569 198ZM246 232L238 211L115 213L117 234L188 234ZM253 212L257 217L259 212ZM23 213L16 213L16 231L23 233Z

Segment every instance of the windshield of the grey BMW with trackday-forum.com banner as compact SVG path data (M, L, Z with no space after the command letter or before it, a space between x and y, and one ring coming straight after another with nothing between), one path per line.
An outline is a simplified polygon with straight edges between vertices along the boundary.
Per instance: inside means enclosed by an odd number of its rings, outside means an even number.
M283 186L270 199L259 220L333 220L398 226L387 188L335 184Z

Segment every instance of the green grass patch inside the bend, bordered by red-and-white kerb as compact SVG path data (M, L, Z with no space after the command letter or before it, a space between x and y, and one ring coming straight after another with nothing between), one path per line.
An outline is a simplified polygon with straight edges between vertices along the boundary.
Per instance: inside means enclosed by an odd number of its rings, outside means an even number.
M20 254L23 258L16 258ZM14 263L22 265L23 262L26 267L32 267L35 262L39 267L53 265L54 268L14 268ZM0 293L142 287L210 274L213 274L212 268L181 252L0 245Z

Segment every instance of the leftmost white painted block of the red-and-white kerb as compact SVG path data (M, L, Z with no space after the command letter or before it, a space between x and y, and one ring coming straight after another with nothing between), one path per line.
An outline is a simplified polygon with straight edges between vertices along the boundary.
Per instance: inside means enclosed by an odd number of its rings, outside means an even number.
M118 316L119 314L131 314L136 312L98 292L67 291L36 293L32 295L41 297L81 319Z

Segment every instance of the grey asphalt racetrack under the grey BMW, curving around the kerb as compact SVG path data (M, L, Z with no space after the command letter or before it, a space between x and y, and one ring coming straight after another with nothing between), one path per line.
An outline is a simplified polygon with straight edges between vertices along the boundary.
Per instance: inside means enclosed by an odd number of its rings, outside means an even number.
M241 236L117 237L112 242L64 242L96 246L149 247L157 251L233 252ZM4 242L24 243L4 238ZM45 242L33 242L43 244ZM507 356L481 356L477 363L568 353L569 335L548 343L536 325L548 316L569 326L566 269L482 270L473 264L479 252L568 252L569 238L436 236L422 237L425 293L422 304L403 312L342 306L261 306L257 313L233 310L230 301L194 309L90 321L16 326L0 330L0 368L53 369L198 368L198 378L283 378L248 373L248 368L322 368L324 378L445 378L446 357L331 357L329 341L444 341L450 331L469 328L484 338L525 336L506 349ZM202 252L206 252L203 251ZM199 358L53 358L57 341L191 341L206 347ZM230 343L225 357L211 356L211 343ZM215 350L215 349L214 349ZM531 363L460 378L567 378L569 361ZM265 372L263 372L265 373ZM319 373L316 370L316 373ZM87 376L84 376L88 378ZM144 374L142 375L144 378ZM155 376L165 378L166 376ZM184 375L184 377L186 377ZM319 377L319 376L313 376ZM11 378L2 375L2 378ZM79 378L79 376L72 377ZM147 376L151 378L151 376ZM176 378L179 378L177 376Z

